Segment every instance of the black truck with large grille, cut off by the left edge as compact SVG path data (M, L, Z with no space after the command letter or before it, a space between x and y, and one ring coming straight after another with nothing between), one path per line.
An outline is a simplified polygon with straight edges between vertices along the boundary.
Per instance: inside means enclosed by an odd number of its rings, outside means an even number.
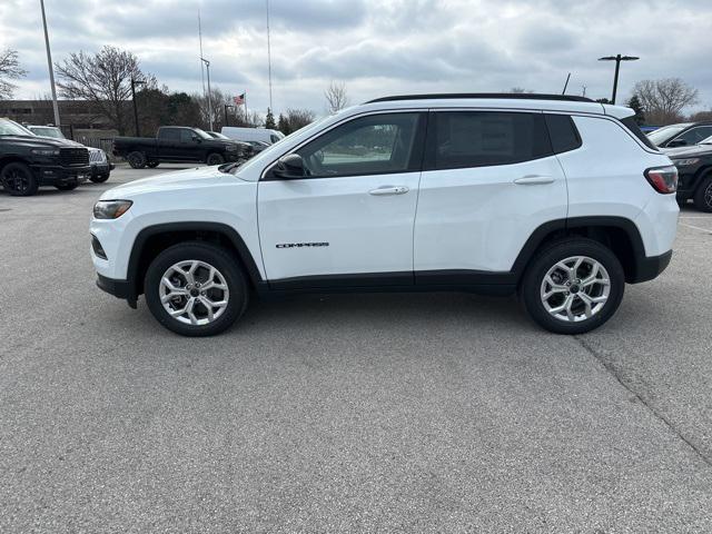
M10 195L29 197L40 186L68 191L90 174L86 147L37 137L12 120L0 119L0 184Z

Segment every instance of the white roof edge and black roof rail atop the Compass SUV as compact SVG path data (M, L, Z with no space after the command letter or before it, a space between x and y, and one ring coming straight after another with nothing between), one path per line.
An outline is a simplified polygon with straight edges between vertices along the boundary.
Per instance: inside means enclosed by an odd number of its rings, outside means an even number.
M541 93L429 93L400 95L369 100L364 106L374 109L394 108L490 108L533 109L562 112L609 115L623 119L634 115L630 108L602 105L573 95Z

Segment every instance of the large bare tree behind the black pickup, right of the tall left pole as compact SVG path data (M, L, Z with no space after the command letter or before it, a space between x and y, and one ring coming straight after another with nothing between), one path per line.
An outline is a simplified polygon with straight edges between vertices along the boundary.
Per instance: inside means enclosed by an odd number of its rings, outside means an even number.
M155 89L156 78L144 73L136 55L106 46L96 55L71 53L56 63L60 93L70 99L96 102L101 115L123 135L129 123L131 79L142 80L145 89Z

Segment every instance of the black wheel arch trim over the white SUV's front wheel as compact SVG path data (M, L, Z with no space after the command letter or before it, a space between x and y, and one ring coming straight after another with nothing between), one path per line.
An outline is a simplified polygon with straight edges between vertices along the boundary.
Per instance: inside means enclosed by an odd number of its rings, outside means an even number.
M129 265L127 269L127 283L129 287L126 298L129 301L136 301L139 295L138 288L140 286L140 280L138 279L138 269L140 266L141 254L148 239L160 234L171 234L176 231L208 231L226 236L229 239L230 244L237 250L239 260L243 263L243 266L247 270L247 275L249 276L253 284L257 287L263 283L261 274L259 273L253 254L245 244L243 237L231 226L222 222L206 221L165 222L144 228L138 233L136 239L134 240L134 246L131 247L131 255L129 256Z

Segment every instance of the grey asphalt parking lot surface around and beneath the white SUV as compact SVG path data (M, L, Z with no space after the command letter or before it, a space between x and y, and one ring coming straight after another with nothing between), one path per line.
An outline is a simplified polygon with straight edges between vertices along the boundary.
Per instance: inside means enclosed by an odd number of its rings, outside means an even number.
M189 339L88 254L101 191L176 167L0 194L0 532L712 530L712 215L584 336L434 294Z

